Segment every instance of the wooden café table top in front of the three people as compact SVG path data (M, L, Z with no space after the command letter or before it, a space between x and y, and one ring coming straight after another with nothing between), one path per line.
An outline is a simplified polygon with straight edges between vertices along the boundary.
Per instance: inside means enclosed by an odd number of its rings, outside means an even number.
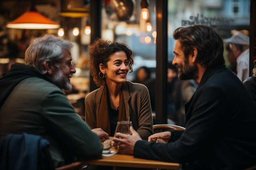
M180 164L178 163L135 158L133 155L119 153L112 156L102 156L101 159L82 160L82 162L87 165L113 166L113 170L121 169L121 167L180 169Z

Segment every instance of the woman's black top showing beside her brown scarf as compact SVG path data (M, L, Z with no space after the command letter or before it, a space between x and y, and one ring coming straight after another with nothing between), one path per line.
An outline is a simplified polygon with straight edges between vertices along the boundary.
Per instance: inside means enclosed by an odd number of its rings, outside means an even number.
M116 131L116 125L118 122L118 113L119 109L112 109L110 105L110 98L108 95L108 115L109 115L109 121L110 121L110 136L114 136Z

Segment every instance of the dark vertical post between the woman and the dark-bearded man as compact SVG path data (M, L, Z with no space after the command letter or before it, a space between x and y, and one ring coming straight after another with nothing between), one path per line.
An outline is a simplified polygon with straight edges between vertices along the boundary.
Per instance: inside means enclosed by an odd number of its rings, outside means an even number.
M167 124L168 1L156 1L156 124Z

